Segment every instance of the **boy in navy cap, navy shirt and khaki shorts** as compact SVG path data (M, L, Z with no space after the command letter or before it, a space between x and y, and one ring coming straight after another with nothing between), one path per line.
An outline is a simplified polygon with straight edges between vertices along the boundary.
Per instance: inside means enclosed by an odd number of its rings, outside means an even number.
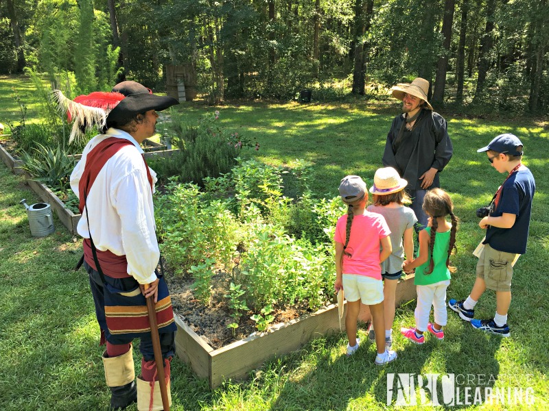
M511 304L513 264L518 255L526 253L535 192L534 176L521 162L522 149L522 142L517 136L501 134L489 145L477 150L487 153L494 169L509 175L495 193L489 214L478 223L487 231L471 294L463 301L448 301L449 308L457 312L461 319L470 321L474 328L503 337L511 335L507 312ZM476 303L487 288L495 291L495 315L493 319L473 319Z

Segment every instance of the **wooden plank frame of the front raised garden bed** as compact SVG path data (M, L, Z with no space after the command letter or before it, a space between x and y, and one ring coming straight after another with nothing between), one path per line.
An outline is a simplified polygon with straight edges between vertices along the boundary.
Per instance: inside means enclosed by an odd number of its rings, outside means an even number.
M414 275L408 275L397 284L397 305L416 298ZM369 315L369 314L367 314ZM299 349L321 336L340 332L338 307L332 304L312 314L306 314L288 323L273 325L268 332L249 336L219 349L213 349L184 321L175 316L176 353L187 362L198 377L207 378L211 389L225 379L242 379L266 360ZM362 321L369 317L362 316ZM342 319L342 329L344 329Z

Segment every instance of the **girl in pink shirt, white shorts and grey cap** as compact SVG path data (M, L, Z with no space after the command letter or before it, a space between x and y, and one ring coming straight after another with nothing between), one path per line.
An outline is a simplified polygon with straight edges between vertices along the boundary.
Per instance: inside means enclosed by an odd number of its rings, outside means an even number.
M336 224L334 286L336 291L343 289L347 299L347 355L351 356L360 344L356 333L362 301L370 307L372 314L377 346L375 364L383 365L397 358L395 351L385 348L383 282L379 265L391 253L390 230L382 215L364 210L368 194L366 183L358 175L342 179L339 192L348 210Z

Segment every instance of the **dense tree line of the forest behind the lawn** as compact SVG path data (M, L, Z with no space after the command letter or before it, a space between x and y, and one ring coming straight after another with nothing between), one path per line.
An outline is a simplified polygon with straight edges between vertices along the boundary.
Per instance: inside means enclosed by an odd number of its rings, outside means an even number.
M0 71L45 71L70 96L108 90L121 71L161 90L181 64L211 103L370 96L419 75L438 106L549 107L545 0L9 0L0 18Z

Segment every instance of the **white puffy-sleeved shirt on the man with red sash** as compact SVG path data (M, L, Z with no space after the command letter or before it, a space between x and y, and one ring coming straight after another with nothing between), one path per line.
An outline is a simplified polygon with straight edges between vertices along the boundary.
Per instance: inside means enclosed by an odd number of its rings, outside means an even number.
M71 188L78 197L78 184L87 154L109 137L124 138L133 146L127 145L117 151L97 175L86 200L89 216L86 219L84 208L77 231L84 238L90 238L91 234L95 247L100 251L126 255L128 274L139 284L149 284L156 279L154 269L160 251L155 234L152 192L141 157L143 150L137 141L130 134L114 128L92 138L71 173ZM150 174L154 189L156 173L150 169Z

